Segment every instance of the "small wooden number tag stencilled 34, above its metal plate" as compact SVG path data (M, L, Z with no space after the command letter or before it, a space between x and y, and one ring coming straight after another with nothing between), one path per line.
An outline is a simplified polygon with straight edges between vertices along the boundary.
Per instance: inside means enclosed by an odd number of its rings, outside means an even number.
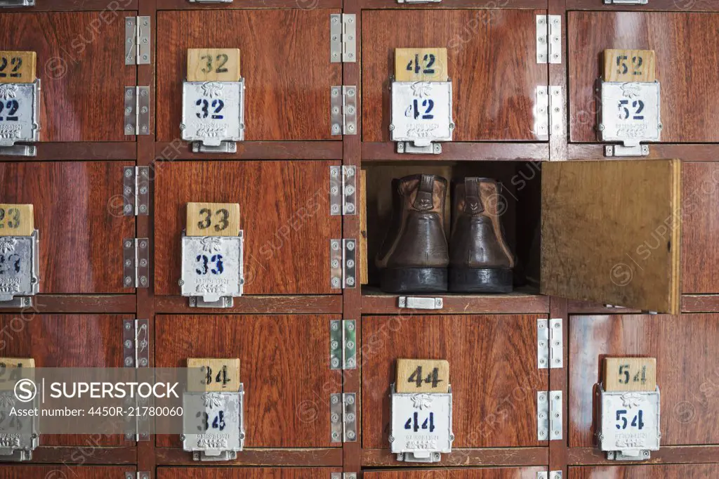
M239 359L192 357L187 360L188 391L239 391Z

